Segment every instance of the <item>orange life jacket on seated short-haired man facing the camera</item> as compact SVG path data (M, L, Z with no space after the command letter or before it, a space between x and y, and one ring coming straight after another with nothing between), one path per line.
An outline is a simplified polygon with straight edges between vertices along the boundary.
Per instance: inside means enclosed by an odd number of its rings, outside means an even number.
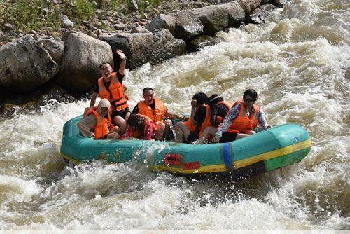
M151 120L156 123L158 121L163 121L165 113L167 113L167 107L165 104L157 97L154 98L155 109L153 110L151 106L148 106L145 101L140 101L137 105L139 106L139 113L141 115L151 118Z

